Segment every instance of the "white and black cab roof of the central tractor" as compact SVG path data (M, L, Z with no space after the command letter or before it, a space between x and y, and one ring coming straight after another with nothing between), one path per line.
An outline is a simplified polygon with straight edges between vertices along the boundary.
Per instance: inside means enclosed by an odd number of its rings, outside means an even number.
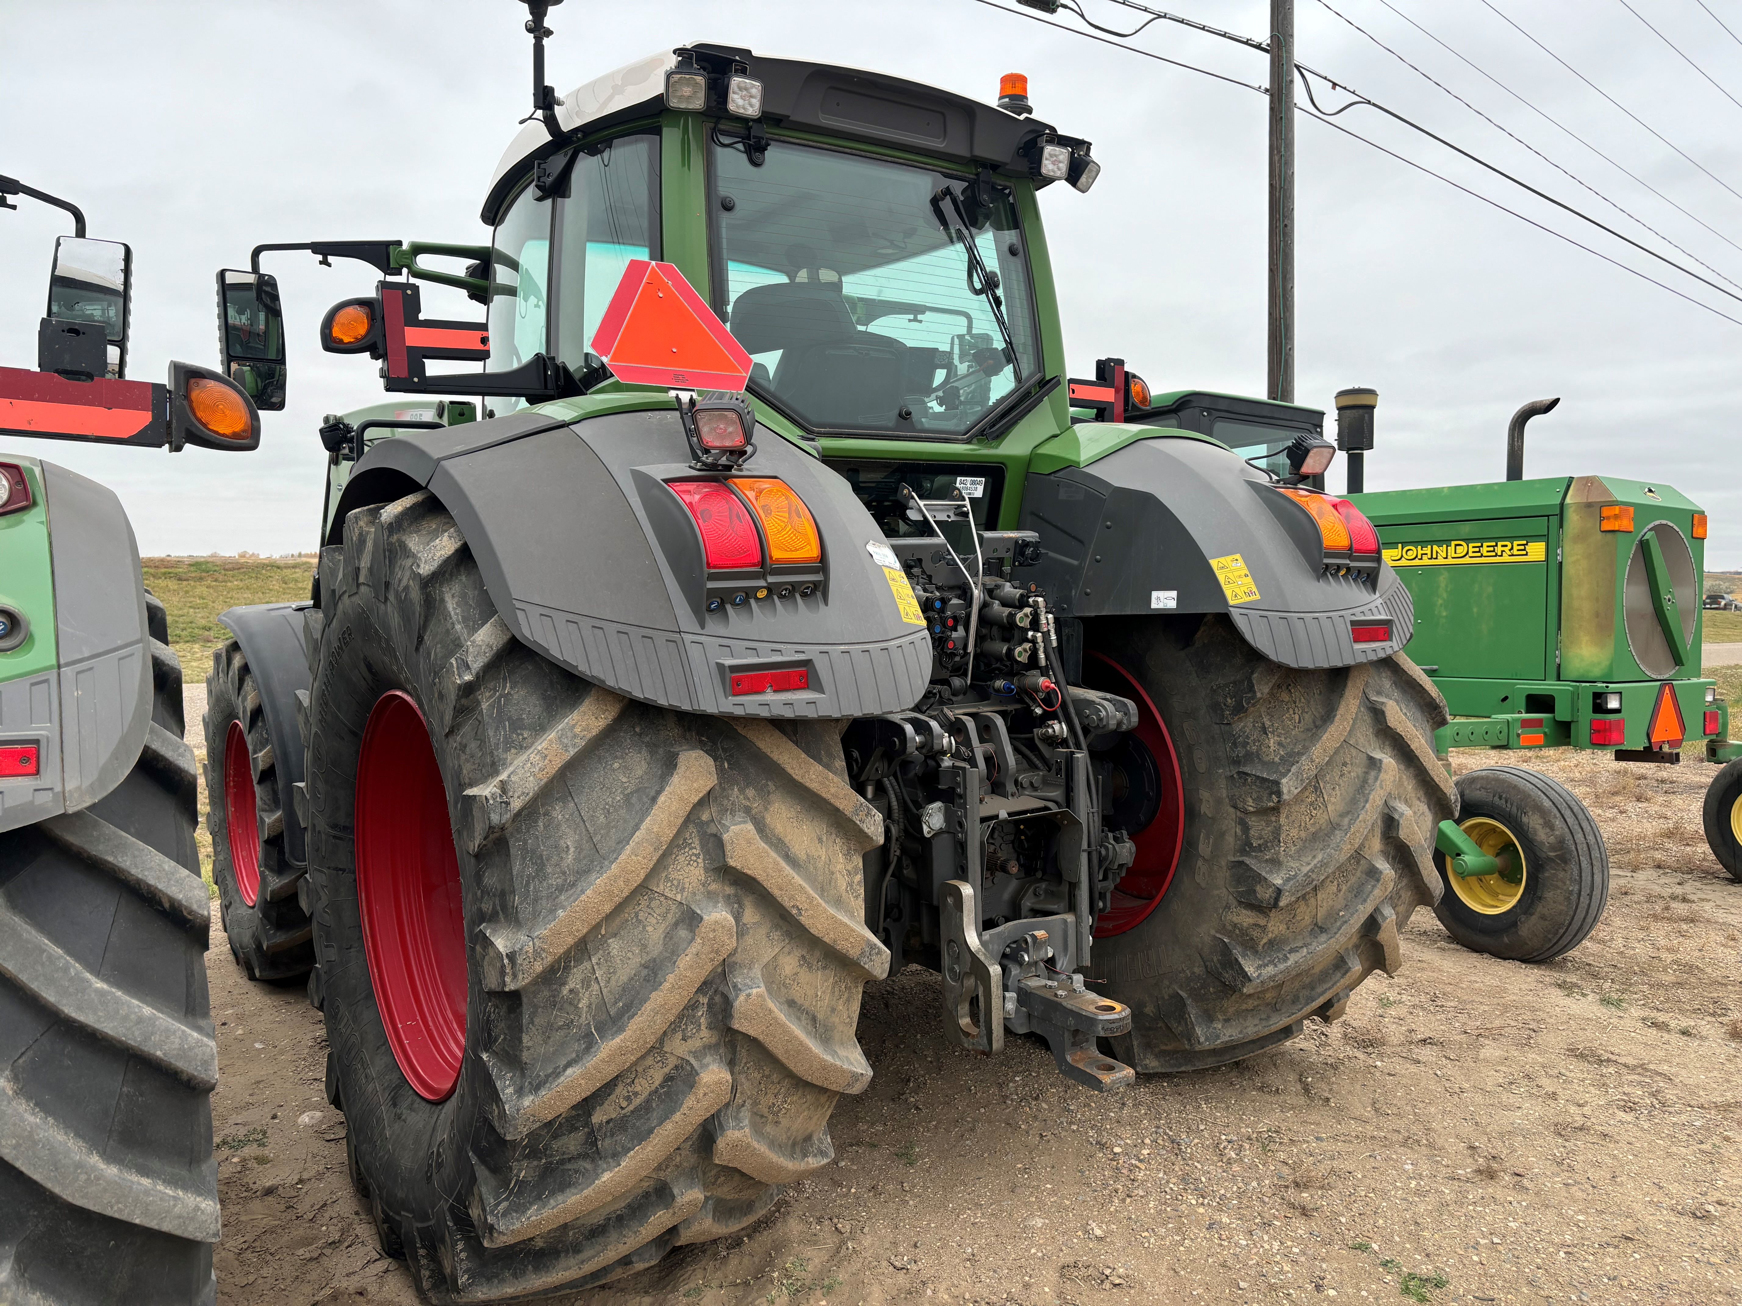
M888 73L777 59L707 42L678 49L695 50L707 63L746 64L749 75L763 84L763 122L772 125L904 146L960 165L1024 176L1030 143L1052 131L1038 118L1023 118L995 104ZM676 64L674 50L660 50L575 87L557 103L556 118L563 129L557 139L538 118L521 127L490 178L490 193L479 214L484 223L496 223L509 193L535 160L557 153L577 136L662 111L665 73Z

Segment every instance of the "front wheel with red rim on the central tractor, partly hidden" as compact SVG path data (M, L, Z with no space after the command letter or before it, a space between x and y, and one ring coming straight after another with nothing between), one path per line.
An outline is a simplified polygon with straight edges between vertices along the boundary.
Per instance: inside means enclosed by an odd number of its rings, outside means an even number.
M303 879L284 855L284 803L260 686L233 639L206 677L206 827L230 956L256 980L293 980L315 963ZM296 747L289 742L289 747Z

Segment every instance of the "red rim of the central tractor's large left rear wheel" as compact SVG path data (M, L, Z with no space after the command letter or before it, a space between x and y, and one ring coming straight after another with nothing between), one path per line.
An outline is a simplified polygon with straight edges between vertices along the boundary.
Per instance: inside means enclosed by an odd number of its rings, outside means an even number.
M397 690L376 700L362 731L355 822L375 1005L406 1083L441 1102L465 1060L460 862L429 726Z

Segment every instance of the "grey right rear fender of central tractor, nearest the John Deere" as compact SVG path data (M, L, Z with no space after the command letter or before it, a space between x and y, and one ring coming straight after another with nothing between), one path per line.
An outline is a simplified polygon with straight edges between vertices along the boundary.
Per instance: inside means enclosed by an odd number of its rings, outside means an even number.
M1023 528L1045 550L1035 578L1071 616L1226 613L1286 667L1348 667L1397 653L1415 632L1409 590L1383 559L1367 576L1326 571L1319 529L1268 479L1219 444L1153 437L1089 467L1030 474ZM1225 589L1239 559L1251 590ZM1352 623L1392 637L1355 644Z

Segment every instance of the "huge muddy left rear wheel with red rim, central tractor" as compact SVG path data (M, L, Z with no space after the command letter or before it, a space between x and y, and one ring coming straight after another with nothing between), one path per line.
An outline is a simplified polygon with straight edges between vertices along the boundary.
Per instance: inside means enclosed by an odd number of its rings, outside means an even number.
M436 1303L575 1290L827 1165L888 968L838 728L571 676L423 491L350 514L321 601L308 885L381 1249Z

